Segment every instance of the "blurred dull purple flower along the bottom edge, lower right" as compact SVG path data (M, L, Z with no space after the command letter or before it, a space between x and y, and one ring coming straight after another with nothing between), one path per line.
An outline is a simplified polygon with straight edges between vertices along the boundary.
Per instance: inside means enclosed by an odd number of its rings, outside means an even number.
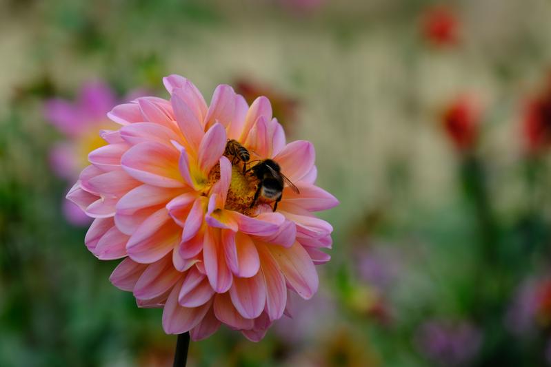
M429 321L421 325L417 346L428 359L441 366L464 366L477 355L480 331L468 322Z

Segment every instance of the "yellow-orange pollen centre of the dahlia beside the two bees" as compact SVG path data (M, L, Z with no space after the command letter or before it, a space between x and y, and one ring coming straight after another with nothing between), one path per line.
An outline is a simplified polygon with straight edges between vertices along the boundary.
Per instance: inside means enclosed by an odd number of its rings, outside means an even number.
M208 186L212 187L219 179L220 165L216 165L208 176ZM258 204L255 204L253 207L251 205L259 184L260 180L252 172L243 174L243 165L240 162L232 165L232 180L224 209L238 211L246 216L254 216L257 212Z

